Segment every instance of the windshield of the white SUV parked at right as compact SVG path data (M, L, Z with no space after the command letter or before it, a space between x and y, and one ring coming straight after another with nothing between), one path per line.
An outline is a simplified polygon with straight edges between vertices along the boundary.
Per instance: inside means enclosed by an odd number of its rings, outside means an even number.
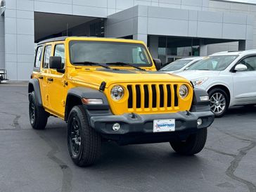
M209 56L192 65L188 70L216 70L226 69L238 56Z

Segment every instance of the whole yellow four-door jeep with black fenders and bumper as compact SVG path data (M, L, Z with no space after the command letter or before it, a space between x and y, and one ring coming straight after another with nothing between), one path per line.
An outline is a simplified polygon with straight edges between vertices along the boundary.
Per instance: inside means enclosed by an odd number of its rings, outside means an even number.
M177 153L199 153L214 120L209 97L182 77L158 72L160 65L143 41L41 41L28 87L30 123L44 129L50 115L68 122L68 151L79 166L93 164L110 140L169 142Z

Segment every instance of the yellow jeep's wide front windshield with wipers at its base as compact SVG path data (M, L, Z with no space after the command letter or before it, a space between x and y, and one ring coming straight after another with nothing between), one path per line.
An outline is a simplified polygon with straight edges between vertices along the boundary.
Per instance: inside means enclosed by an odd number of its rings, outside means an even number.
M151 66L148 52L142 44L108 41L70 41L71 63L129 63ZM84 65L87 65L84 63Z

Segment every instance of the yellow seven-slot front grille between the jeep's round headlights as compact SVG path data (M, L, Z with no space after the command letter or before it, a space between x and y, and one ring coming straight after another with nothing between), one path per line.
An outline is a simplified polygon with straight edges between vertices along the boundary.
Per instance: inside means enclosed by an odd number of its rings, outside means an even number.
M179 98L177 84L128 84L129 111L166 111L177 110Z

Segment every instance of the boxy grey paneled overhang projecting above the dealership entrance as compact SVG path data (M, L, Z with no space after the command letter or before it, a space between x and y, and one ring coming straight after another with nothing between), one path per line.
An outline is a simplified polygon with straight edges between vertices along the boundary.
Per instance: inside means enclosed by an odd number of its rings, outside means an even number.
M251 40L252 18L238 13L134 6L109 15L107 37L161 35L207 39Z

